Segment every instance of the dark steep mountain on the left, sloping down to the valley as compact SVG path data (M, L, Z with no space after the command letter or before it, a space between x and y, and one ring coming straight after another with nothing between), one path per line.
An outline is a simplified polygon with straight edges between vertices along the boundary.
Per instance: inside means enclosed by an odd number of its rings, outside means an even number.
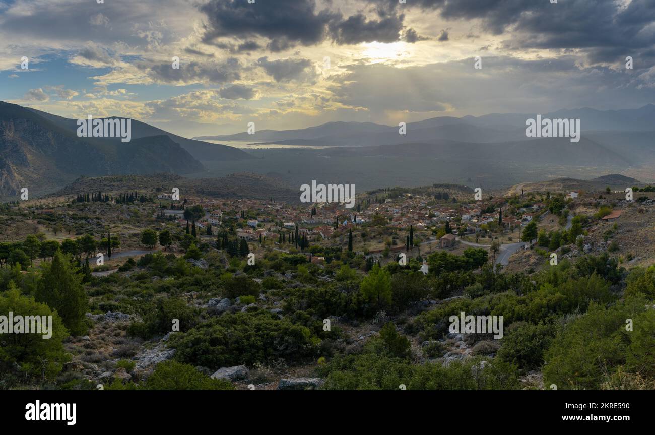
M0 102L0 197L22 187L56 191L81 175L203 172L203 161L252 159L225 145L182 138L132 120L132 140L79 138L77 121Z

